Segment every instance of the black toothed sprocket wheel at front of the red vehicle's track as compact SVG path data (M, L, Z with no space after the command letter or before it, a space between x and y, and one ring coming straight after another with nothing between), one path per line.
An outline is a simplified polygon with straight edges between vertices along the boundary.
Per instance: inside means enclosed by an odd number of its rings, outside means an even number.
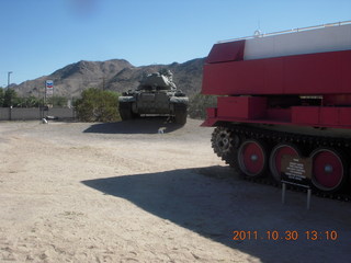
M216 127L212 134L212 148L214 152L233 168L237 167L237 151L240 138L226 127Z

